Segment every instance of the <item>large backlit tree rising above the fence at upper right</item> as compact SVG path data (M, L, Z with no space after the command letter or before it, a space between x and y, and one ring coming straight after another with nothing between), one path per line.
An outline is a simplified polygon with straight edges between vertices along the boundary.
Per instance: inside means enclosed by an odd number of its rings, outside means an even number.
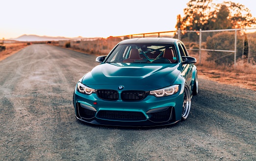
M221 4L213 0L190 0L184 9L184 17L178 15L181 30L214 30L255 27L256 18L243 4L231 1Z

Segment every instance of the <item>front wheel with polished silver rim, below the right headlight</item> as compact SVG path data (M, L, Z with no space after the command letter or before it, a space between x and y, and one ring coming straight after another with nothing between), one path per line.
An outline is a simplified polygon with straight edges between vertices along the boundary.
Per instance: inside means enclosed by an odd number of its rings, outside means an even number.
M184 87L183 92L183 105L182 105L182 113L181 113L181 121L186 120L191 107L191 96L189 92L189 88L187 86Z

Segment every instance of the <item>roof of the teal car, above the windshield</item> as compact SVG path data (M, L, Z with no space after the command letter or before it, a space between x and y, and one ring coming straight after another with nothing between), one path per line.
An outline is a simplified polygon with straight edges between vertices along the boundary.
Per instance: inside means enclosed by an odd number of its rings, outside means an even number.
M119 44L127 43L168 43L174 44L178 39L173 38L134 38L121 41Z

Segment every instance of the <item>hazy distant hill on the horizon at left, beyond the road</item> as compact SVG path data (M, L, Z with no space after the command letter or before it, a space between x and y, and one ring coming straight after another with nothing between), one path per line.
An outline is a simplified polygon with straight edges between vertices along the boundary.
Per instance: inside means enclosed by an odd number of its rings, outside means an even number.
M16 41L59 41L59 40L81 40L82 37L77 38L65 38L65 37L48 37L48 36L37 36L37 35L22 35L15 39L9 40L16 40Z

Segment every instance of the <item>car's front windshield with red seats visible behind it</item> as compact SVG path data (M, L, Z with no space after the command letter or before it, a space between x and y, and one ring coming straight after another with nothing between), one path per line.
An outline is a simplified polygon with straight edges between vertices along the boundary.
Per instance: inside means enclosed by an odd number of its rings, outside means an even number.
M177 63L174 44L120 44L106 62Z

